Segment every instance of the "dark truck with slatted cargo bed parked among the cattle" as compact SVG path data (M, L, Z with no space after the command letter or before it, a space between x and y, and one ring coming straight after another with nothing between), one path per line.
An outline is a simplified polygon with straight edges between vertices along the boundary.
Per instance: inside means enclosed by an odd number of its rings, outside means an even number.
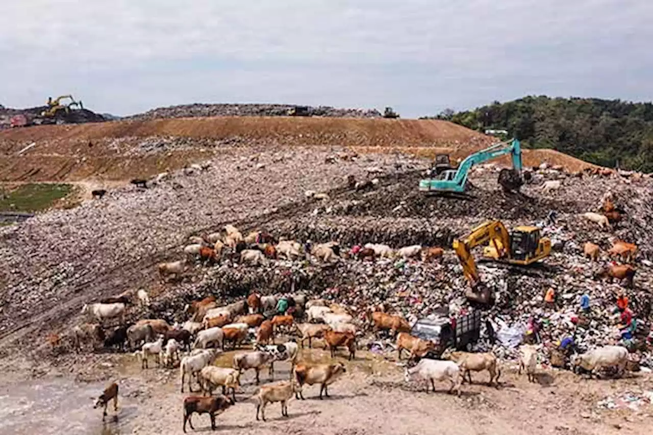
M415 322L411 334L436 344L436 350L428 357L439 358L449 347L468 351L481 336L482 316L479 310L453 319L443 314L430 315Z

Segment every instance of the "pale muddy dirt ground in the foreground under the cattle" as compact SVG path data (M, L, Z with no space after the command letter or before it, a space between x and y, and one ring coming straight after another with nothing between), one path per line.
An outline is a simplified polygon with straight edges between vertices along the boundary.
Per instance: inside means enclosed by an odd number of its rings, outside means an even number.
M232 353L218 364L228 365ZM302 359L326 361L321 350L304 351ZM268 421L256 421L257 391L250 373L244 374L235 406L217 418L217 432L251 434L645 434L653 423L650 404L637 411L602 410L596 403L607 394L653 389L653 380L643 375L627 379L588 381L569 372L541 370L539 383L517 376L504 364L499 388L485 385L486 374L475 374L474 385L465 384L459 397L448 395L446 383L436 383L436 393L424 393L421 384L406 384L402 368L393 361L360 352L347 362L347 375L319 400L319 387L305 387L306 400L291 400L289 417L280 415L279 405L266 409ZM0 389L0 434L89 434L182 433L182 399L178 371L155 368L140 370L131 355L103 355L98 366L78 367L72 374L18 383L3 379ZM287 379L289 366L275 366L275 380ZM91 373L105 376L94 379ZM88 377L89 376L89 377ZM101 410L93 410L92 396L104 383L118 379L118 418L110 410L106 424ZM269 381L262 372L261 381ZM208 416L195 415L193 432L210 430Z

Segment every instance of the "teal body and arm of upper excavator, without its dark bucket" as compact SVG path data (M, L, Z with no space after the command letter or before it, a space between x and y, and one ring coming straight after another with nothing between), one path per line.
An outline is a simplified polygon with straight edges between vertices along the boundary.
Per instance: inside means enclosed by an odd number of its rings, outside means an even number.
M488 160L502 157L502 155L511 154L513 159L513 170L521 172L522 170L522 149L517 139L509 140L494 144L485 150L468 155L456 170L456 174L451 180L434 180L426 179L419 182L419 189L425 192L456 192L465 191L465 184L470 169L473 165L478 165Z

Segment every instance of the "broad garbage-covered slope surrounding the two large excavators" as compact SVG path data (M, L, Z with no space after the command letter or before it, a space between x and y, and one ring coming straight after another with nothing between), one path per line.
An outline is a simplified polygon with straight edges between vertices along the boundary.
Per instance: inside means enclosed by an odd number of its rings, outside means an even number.
M7 288L1 296L0 333L36 312L74 323L83 302L138 287L153 295L148 315L171 322L184 320L182 308L193 298L212 294L231 302L257 290L337 301L350 306L360 321L379 305L411 321L481 310L485 321L473 346L477 350L494 349L513 358L523 342L554 351L571 337L578 351L624 344L640 366L653 366L648 176L569 174L544 165L532 171L521 193L506 194L496 182L500 168L483 165L471 171L470 195L460 199L419 193L422 165L399 155L345 157L316 150L226 156L206 170L178 171L150 180L147 189L116 189L101 201L0 229L5 264L0 282ZM560 187L544 191L547 180L559 180ZM601 227L583 216L600 212L607 198L621 210L618 221ZM449 248L453 238L488 219L508 228L537 225L550 238L552 253L528 268L479 262L481 282L495 299L481 306L467 300L468 282ZM161 283L157 262L182 259L189 236L219 231L227 223L244 234L264 229L302 244L335 240L342 258L324 263L302 255L247 266L227 253L213 266L191 265L180 282ZM637 245L631 287L599 273L609 265L607 250L616 240ZM395 250L442 246L445 255L429 262L344 258L368 242ZM584 255L585 242L599 246L597 261ZM628 297L632 319L626 324L624 311L617 310L618 296ZM374 342L370 335L369 340ZM387 343L370 346L391 349ZM540 362L550 364L549 355L544 353Z

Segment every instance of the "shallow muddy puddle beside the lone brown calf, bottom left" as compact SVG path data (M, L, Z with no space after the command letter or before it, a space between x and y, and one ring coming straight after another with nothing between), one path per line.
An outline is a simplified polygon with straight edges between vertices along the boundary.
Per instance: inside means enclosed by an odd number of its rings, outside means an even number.
M0 386L0 435L126 434L136 408L118 402L118 421L108 408L103 423L102 410L94 410L93 404L104 387L64 379L5 383Z

